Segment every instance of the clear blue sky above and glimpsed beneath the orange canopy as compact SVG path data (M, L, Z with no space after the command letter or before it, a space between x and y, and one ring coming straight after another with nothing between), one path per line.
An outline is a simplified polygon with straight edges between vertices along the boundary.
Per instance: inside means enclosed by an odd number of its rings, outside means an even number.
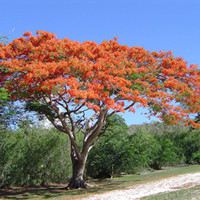
M9 40L46 30L58 37L172 50L200 64L199 0L1 0L0 35ZM149 122L139 112L128 124ZM155 119L151 119L155 120Z

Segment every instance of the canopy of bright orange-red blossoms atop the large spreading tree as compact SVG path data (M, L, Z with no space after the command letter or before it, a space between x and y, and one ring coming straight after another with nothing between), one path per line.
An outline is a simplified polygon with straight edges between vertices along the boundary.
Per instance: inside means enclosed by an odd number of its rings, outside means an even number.
M40 103L51 94L53 102L44 102L52 110L61 99L97 113L102 108L133 111L137 103L168 123L199 111L198 67L171 52L149 52L116 40L80 43L38 31L1 44L0 60L13 99Z

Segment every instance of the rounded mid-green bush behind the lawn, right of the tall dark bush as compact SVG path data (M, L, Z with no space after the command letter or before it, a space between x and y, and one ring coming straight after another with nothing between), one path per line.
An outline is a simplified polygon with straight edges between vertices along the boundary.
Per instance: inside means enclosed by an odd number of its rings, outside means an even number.
M161 169L163 166L178 162L176 147L164 135L158 136L155 132L140 131L129 135L124 144L127 173L134 173L141 168Z

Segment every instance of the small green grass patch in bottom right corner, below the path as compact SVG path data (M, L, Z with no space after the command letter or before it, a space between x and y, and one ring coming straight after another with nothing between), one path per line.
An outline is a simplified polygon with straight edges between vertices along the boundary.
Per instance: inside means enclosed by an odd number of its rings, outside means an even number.
M142 200L200 200L200 185L175 192L160 193L142 198Z

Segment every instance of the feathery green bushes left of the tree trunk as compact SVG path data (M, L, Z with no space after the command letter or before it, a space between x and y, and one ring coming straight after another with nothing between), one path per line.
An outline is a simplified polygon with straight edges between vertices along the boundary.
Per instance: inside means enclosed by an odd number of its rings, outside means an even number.
M0 187L65 182L71 171L66 136L55 130L1 132L0 157Z

